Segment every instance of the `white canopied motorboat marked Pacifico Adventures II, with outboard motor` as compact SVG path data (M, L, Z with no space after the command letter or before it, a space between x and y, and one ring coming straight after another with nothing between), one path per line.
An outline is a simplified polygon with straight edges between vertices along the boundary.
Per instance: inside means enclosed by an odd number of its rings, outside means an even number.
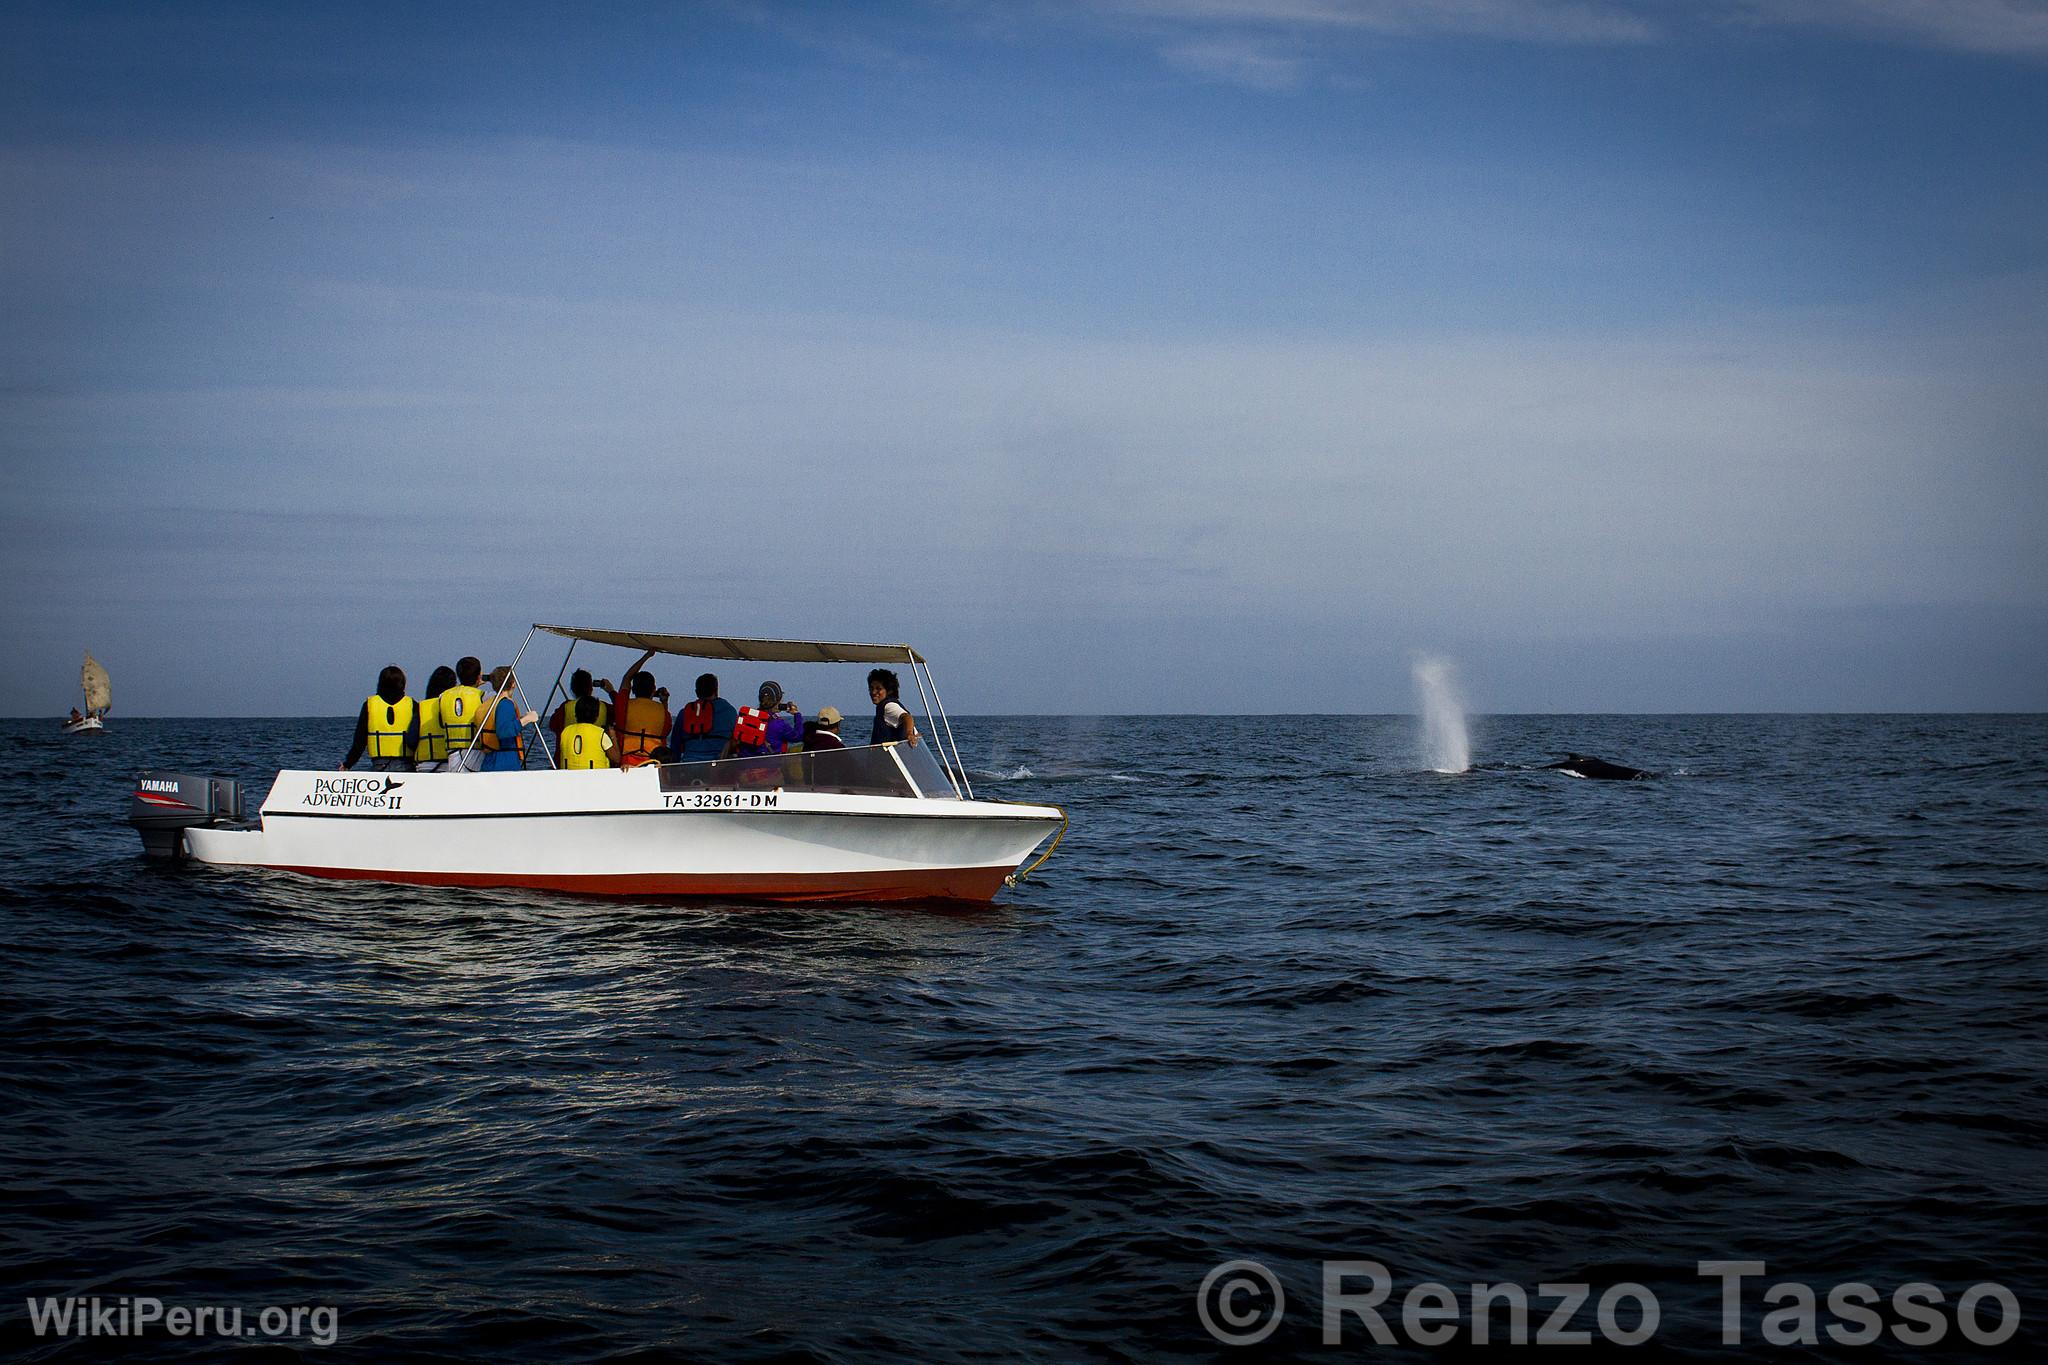
M532 726L526 769L281 772L256 821L244 821L236 782L152 772L137 782L129 821L145 851L203 864L430 886L768 900L989 900L1040 843L1057 845L1065 831L1059 806L975 796L930 667L907 645L535 630L567 636L571 657L588 641L641 649L641 663L668 653L909 665L926 698L926 737L571 772L555 767L547 733ZM530 712L516 684L524 649L508 696ZM1051 845L1038 862L1047 855Z

